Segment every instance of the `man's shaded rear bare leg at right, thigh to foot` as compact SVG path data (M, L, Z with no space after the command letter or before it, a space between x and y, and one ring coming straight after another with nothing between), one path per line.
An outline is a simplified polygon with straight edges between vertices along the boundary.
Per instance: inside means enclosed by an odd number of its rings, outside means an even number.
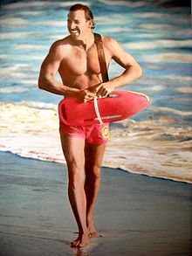
M100 237L93 220L93 210L100 187L100 166L102 164L105 145L86 144L86 224L89 237Z

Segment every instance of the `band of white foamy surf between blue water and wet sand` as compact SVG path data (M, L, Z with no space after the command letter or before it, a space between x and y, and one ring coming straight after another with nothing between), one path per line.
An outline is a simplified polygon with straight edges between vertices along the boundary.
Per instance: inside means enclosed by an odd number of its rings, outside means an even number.
M1 103L0 151L65 163L54 104ZM103 166L131 173L192 183L192 128L172 119L117 122L111 125Z

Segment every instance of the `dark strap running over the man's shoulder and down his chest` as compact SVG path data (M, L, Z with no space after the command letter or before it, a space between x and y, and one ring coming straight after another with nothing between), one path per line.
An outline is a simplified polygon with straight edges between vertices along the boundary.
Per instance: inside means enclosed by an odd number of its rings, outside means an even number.
M108 78L108 73L106 69L106 58L103 50L103 42L102 42L101 36L97 33L94 33L94 43L97 46L97 50L98 50L99 66L100 66L100 73L102 75L102 80L103 82L107 82L109 78Z

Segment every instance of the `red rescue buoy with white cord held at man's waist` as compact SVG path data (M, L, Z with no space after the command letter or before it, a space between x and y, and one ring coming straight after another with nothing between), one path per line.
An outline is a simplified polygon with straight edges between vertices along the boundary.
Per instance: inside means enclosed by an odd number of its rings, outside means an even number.
M58 104L59 121L72 126L120 121L141 112L150 104L146 94L130 91L113 91L106 98L86 103L66 97Z

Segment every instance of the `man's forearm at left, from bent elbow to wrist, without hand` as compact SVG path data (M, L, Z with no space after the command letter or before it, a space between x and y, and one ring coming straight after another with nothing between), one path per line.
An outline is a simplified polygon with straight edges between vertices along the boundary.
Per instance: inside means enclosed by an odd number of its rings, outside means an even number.
M64 96L73 96L76 97L79 93L79 89L72 88L69 86L64 86L63 84L58 83L53 78L39 78L38 87L42 90L45 90L50 93L64 95Z

